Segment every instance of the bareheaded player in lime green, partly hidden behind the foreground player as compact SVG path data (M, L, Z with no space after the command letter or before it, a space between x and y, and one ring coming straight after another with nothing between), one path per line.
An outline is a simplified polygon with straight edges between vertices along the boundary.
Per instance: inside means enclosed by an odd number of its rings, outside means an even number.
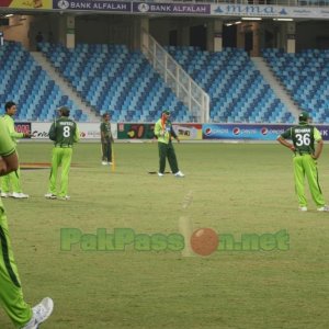
M29 138L31 137L30 133L16 133L13 116L16 114L16 104L12 101L7 102L4 105L5 114L3 120L9 132L9 135L16 147L18 138ZM12 190L12 193L10 192ZM22 192L21 186L21 170L20 167L16 171L9 173L8 175L1 179L1 197L12 196L14 198L26 198L27 194Z

